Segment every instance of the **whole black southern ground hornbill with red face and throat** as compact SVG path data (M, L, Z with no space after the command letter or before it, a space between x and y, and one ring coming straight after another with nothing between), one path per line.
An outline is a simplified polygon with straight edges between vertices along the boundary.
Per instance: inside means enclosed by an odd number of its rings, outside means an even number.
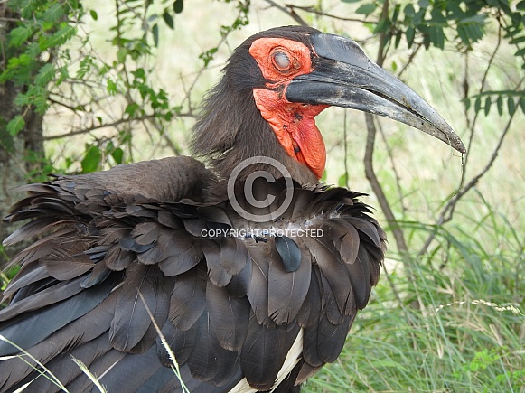
M58 391L56 378L96 391L74 358L108 392L178 391L167 347L194 392L298 391L335 360L378 282L385 234L359 193L318 182L314 117L333 105L464 152L355 42L282 27L232 54L194 129L200 161L23 186L6 220L29 222L5 245L37 240L4 294L0 334L17 347L0 342L0 390Z

